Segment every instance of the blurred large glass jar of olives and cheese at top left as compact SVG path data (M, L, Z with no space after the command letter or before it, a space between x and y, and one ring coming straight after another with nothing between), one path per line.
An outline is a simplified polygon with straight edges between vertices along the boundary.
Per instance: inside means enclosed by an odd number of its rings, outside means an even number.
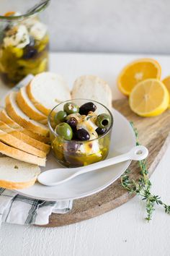
M27 74L48 70L48 29L38 14L50 0L7 2L0 16L0 74L6 84L14 86Z

